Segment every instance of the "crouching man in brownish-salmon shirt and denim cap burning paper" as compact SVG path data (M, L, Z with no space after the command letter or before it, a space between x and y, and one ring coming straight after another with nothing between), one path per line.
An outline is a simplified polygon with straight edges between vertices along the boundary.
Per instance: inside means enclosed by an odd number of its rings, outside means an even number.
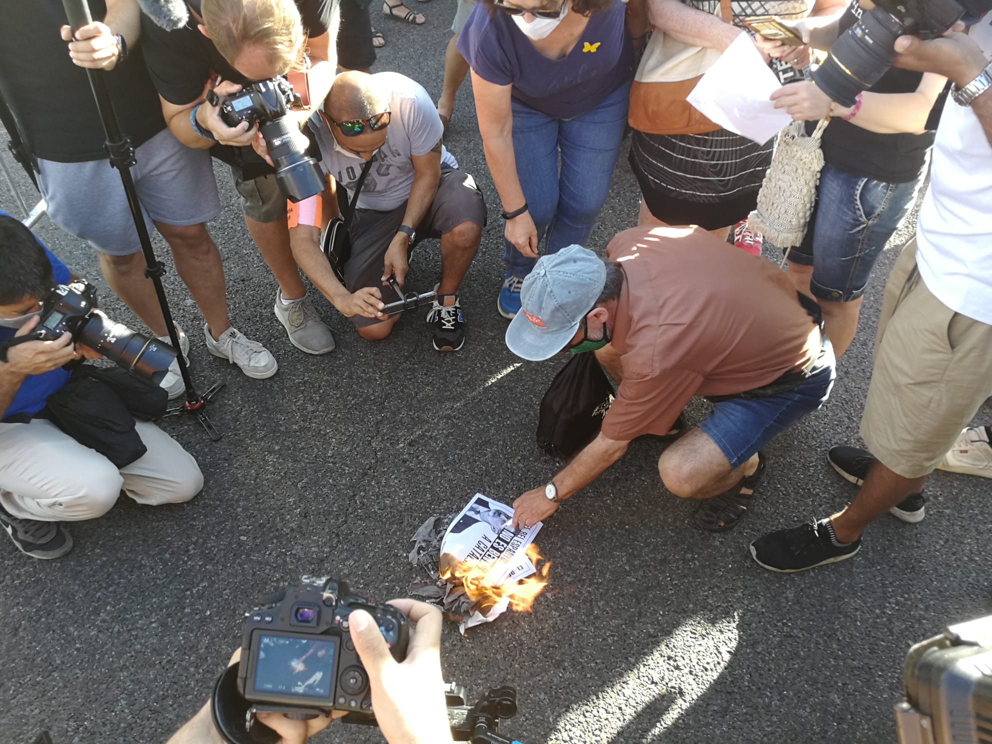
M816 306L773 264L700 228L626 230L606 256L573 245L543 257L507 329L524 359L594 351L620 382L601 432L514 502L514 526L550 517L631 440L655 434L678 436L658 460L665 487L701 501L699 527L728 530L765 474L765 444L830 394L833 349ZM680 436L682 409L697 395L713 411Z

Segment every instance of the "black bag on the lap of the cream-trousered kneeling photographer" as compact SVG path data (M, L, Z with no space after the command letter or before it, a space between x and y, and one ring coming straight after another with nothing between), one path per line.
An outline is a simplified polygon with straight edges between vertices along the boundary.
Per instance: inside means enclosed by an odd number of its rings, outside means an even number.
M49 396L42 415L120 468L148 451L135 429L135 416L160 417L168 403L165 390L123 369L84 364L73 370L61 390Z

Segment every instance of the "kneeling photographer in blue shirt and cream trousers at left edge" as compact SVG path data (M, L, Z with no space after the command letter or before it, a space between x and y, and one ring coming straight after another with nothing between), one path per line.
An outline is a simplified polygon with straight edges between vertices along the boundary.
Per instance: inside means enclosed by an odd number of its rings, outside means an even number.
M72 548L62 521L105 514L122 489L138 503L151 505L188 501L199 493L203 476L196 461L154 424L133 422L134 434L115 427L112 434L132 434L130 439L136 445L131 446L130 455L115 457L130 460L118 466L90 448L106 442L77 441L50 420L49 404L64 399L65 392L82 395L102 390L111 396L114 392L91 381L67 387L72 373L63 365L73 359L99 356L73 343L72 333L61 333L54 340L19 342L43 324L60 319L47 313L47 308L43 310L42 302L55 286L69 282L69 271L27 227L2 212L0 252L4 259L0 272L0 343L4 344L0 356L0 526L14 545L33 558L60 558ZM154 345L151 339L144 340L135 363ZM165 357L160 375L165 374L174 356L170 353ZM147 389L149 396L161 396L164 404L165 391L152 386ZM60 426L76 435L80 429L92 431L93 422L80 421L80 426L74 427L63 418L67 411L86 410L85 405L75 406L70 400L60 403L61 416L54 417ZM99 408L101 418L110 416L102 403ZM123 423L130 425L132 420ZM128 440L121 439L121 443Z

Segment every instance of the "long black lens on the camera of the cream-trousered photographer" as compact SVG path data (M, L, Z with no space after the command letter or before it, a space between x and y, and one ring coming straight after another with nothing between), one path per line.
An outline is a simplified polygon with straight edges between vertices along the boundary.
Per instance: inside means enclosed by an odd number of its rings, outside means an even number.
M176 359L176 349L93 310L72 334L76 343L98 351L145 382L158 386Z

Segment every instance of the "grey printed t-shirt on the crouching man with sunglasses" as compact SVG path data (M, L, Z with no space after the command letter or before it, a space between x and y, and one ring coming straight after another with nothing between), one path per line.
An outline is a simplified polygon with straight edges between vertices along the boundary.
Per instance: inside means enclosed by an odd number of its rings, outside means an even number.
M392 116L386 130L386 142L372 156L375 165L358 194L358 208L389 211L410 197L415 175L412 156L430 153L444 133L444 125L434 101L420 83L399 72L377 72L373 77L391 89L389 110ZM320 147L323 172L353 192L365 161L337 144L322 117L312 117L310 129ZM442 165L458 167L443 147L440 160Z

